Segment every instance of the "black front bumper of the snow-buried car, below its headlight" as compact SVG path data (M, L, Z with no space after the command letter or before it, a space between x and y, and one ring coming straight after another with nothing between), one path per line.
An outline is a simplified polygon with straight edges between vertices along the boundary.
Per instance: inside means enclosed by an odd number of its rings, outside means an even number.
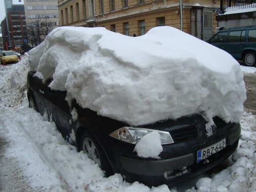
M205 146L191 146L191 153L161 160L136 159L121 155L118 157L119 168L129 182L139 181L148 186L174 185L183 179L205 173L227 159L236 150L240 135L240 124L236 124L226 136L226 147L199 163L197 151Z

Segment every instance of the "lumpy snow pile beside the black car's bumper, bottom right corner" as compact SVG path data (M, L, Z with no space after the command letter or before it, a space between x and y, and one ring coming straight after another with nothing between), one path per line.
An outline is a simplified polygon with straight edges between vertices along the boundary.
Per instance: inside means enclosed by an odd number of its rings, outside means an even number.
M241 120L242 133L237 151L228 159L228 166L211 178L197 181L197 190L187 189L186 192L252 192L256 190L256 120L255 116L244 112ZM232 159L232 161L231 161ZM235 162L233 162L235 161Z

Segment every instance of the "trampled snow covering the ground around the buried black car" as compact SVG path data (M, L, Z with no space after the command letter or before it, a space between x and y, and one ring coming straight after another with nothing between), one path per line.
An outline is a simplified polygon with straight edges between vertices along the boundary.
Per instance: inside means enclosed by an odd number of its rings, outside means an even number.
M53 122L46 121L39 113L28 108L26 98L26 75L28 65L26 57L15 65L0 66L0 133L1 139L9 144L1 161L0 177L11 175L8 167L18 167L20 177L10 177L9 186L0 179L2 191L87 191L87 192L251 192L256 190L256 117L244 112L241 119L242 138L238 150L232 158L224 162L226 168L218 167L221 172L211 176L201 176L193 185L189 181L168 189L166 185L147 187L141 183L126 183L119 174L104 178L102 170L86 154L77 153L66 143ZM25 62L24 62L25 61ZM246 72L256 68L241 66ZM10 163L11 162L11 163ZM14 164L15 163L15 164ZM29 185L15 185L15 179L25 180ZM23 183L23 184L24 184ZM8 188L9 187L9 188ZM196 188L197 187L197 188ZM234 190L236 188L236 190Z

